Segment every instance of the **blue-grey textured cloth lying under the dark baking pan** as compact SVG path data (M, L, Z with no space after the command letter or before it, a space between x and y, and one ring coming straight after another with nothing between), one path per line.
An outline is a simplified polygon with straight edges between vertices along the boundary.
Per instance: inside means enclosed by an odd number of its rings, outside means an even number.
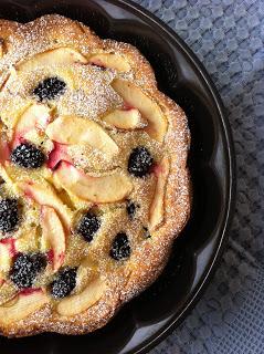
M228 108L237 205L221 266L191 315L151 354L264 353L264 1L136 0L211 74Z

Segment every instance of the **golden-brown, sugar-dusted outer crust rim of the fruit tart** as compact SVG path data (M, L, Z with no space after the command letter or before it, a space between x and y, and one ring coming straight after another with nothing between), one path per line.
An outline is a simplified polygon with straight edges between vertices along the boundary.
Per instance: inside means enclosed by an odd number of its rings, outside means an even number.
M166 186L162 226L150 239L141 243L123 269L117 270L120 277L113 278L103 298L85 312L71 319L61 317L52 310L52 304L46 304L25 320L6 326L0 324L0 332L8 336L25 336L53 331L65 334L92 332L105 325L125 302L157 279L166 266L175 238L188 221L191 188L187 169L190 144L187 118L173 101L158 91L150 64L133 45L101 40L82 23L50 14L27 24L1 20L0 37L7 43L7 60L3 58L3 67L7 64L15 64L25 55L32 54L27 53L29 48L23 46L24 40L31 41L30 48L34 49L35 53L62 45L74 46L84 55L118 52L128 60L135 82L148 95L155 97L169 118L165 146L170 157L170 174ZM21 45L20 49L19 45ZM138 257L137 253L144 257Z

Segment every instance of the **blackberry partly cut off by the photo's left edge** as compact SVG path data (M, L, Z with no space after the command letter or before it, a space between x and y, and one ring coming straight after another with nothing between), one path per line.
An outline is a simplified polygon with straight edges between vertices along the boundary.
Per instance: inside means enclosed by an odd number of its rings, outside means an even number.
M0 231L12 232L19 223L19 206L17 199L2 199L0 201Z

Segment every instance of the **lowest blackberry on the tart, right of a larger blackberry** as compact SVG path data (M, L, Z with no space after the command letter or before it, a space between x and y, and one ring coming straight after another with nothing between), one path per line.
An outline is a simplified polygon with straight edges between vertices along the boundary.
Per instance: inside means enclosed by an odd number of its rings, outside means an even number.
M51 283L51 294L54 299L62 299L68 295L76 285L76 268L66 268L61 271Z

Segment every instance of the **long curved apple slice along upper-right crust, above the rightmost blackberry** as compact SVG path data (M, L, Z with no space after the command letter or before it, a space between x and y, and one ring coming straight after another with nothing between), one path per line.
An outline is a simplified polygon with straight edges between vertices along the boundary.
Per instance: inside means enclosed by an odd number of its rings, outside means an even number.
M145 131L148 135L157 142L162 143L168 128L168 122L159 105L129 81L115 79L112 82L112 86L126 103L138 108L142 117L147 119L148 126Z

